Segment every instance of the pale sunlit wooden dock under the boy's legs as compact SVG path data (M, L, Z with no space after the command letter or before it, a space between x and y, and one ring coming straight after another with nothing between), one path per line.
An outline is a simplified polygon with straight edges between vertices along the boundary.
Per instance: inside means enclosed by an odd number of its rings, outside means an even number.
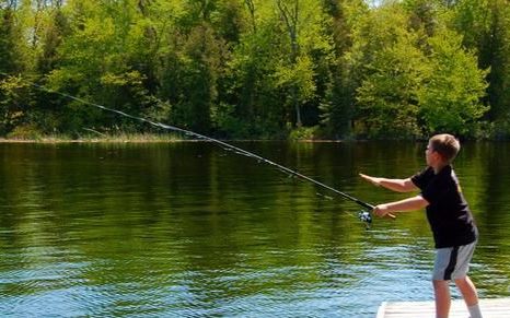
M510 298L480 299L484 318L510 317ZM376 318L434 318L436 307L432 302L384 302L378 310ZM452 301L450 318L467 318L470 314L463 299Z

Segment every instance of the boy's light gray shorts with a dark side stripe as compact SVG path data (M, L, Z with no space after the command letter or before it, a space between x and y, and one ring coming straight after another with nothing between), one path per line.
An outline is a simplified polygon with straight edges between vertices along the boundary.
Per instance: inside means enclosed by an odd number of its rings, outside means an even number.
M467 275L476 242L468 245L436 249L432 280L450 281Z

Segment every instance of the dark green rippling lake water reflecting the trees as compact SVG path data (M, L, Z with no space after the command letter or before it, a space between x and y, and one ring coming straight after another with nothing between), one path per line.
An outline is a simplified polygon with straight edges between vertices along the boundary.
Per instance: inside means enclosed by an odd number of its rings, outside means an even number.
M409 176L425 151L236 145L372 203L404 197L357 174ZM366 231L355 203L211 143L0 144L0 316L373 317L432 299L422 212ZM510 296L510 144L465 144L455 169L482 233L472 279Z

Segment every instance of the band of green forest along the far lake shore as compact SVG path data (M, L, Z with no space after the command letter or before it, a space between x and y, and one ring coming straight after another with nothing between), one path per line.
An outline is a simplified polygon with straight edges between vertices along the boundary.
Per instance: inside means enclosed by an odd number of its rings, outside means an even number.
M509 139L510 1L1 0L1 137L154 132L50 91L230 139Z

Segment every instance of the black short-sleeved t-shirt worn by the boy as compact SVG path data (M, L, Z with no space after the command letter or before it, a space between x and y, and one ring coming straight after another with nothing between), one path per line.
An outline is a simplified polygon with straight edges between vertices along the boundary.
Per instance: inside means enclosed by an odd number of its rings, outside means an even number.
M414 175L412 181L429 202L427 219L436 248L462 246L476 240L478 231L452 166L443 167L437 175L428 167Z

